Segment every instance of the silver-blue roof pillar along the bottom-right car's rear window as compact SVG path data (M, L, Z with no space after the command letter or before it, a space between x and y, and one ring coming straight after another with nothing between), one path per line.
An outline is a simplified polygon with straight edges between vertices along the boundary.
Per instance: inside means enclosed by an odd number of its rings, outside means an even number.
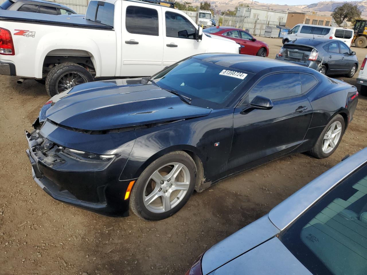
M367 162L367 147L339 162L269 212L272 223L284 230L339 182Z

